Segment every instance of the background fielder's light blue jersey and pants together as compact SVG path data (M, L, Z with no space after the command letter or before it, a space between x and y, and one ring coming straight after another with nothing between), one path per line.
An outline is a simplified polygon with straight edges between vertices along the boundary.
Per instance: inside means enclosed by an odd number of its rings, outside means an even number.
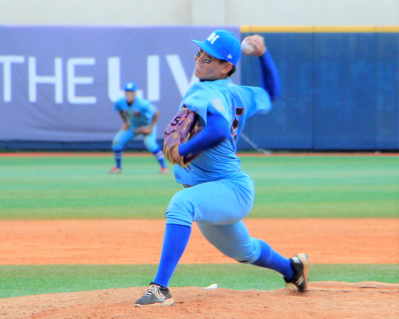
M122 111L130 126L128 130L120 130L115 135L112 142L113 151L122 151L125 144L136 137L133 133L134 129L140 126L149 126L156 110L153 104L138 96L135 97L134 103L130 106L124 96L119 98L115 102L115 111ZM154 125L152 134L144 136L144 144L152 153L159 151L159 146L156 142L156 125Z

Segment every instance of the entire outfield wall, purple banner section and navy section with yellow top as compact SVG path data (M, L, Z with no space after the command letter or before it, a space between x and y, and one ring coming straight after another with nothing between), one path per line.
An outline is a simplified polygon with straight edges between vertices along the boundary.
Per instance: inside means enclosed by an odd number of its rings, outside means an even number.
M196 81L190 39L215 28L0 27L0 147L109 150L121 126L113 102L130 80L160 108L161 144ZM264 35L279 69L282 98L244 130L259 147L399 149L399 27L227 29ZM233 81L259 85L258 63L243 57Z

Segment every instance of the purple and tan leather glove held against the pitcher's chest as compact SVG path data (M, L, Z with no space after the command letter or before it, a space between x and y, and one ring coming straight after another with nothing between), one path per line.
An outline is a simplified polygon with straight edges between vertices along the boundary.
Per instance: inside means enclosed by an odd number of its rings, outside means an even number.
M187 167L198 157L199 153L190 153L175 161L171 156L171 150L175 145L187 142L202 130L198 123L198 114L183 106L178 114L169 123L164 134L164 155L172 164Z

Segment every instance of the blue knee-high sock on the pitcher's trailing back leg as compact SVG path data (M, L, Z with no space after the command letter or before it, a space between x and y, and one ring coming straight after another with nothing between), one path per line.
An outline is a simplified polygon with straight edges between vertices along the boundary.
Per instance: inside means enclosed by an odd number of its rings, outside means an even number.
M291 279L294 273L292 272L290 260L275 252L267 242L260 239L257 240L259 240L261 244L261 256L252 264L273 269L282 274L285 278Z

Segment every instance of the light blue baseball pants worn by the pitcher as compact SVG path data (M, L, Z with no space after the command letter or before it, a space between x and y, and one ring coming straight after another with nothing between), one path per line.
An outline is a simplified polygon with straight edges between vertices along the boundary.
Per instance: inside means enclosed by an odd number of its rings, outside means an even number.
M240 172L176 193L165 214L166 224L191 226L197 222L205 238L223 254L252 263L259 258L261 246L242 219L251 211L253 199L253 181Z

